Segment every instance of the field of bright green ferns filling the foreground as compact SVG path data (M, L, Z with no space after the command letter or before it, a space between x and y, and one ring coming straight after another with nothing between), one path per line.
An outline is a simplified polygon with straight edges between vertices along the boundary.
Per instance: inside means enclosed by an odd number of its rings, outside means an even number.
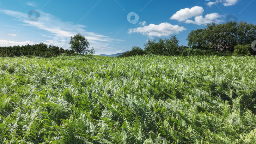
M253 144L255 71L255 56L0 57L0 143Z

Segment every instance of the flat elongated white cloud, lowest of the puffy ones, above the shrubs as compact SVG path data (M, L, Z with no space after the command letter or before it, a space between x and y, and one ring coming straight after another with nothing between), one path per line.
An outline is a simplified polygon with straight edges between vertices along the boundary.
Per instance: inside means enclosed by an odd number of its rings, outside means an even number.
M128 30L128 33L141 33L143 35L147 35L150 38L153 36L157 37L166 37L174 33L179 33L186 30L184 27L180 27L178 25L171 25L169 23L161 23L159 25L150 24L144 27L131 28Z

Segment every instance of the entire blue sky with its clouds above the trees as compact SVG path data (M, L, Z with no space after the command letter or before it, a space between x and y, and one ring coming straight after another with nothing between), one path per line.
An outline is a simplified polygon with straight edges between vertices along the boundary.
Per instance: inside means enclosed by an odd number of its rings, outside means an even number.
M69 48L81 33L95 54L144 48L147 39L177 35L227 20L256 24L256 0L8 0L0 2L0 46L37 44Z

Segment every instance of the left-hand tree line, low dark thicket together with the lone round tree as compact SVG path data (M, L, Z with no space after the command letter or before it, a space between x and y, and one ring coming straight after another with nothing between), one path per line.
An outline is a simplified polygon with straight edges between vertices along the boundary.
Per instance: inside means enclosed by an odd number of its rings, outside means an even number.
M47 46L44 43L35 45L23 45L23 46L5 46L0 47L0 57L57 57L61 54L76 55L76 54L89 54L92 57L94 54L94 48L88 50L89 42L85 39L81 33L71 36L69 44L70 50L59 48L58 46ZM86 52L88 51L88 52Z

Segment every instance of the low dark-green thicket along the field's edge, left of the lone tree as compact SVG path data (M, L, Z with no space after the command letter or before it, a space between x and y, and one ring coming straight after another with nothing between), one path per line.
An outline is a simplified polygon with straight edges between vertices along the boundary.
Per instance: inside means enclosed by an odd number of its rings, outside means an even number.
M64 50L63 48L59 48L58 46L47 46L43 43L36 45L0 47L0 57L57 57L62 53L65 53L67 55L74 55L74 51L72 50Z

